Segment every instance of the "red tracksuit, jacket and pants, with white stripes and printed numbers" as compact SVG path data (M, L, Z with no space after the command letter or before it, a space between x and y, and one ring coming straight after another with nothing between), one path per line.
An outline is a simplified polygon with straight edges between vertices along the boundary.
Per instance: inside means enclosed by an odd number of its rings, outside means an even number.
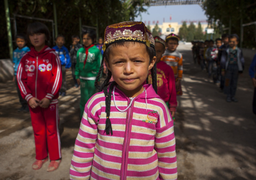
M35 136L36 159L61 157L58 131L58 93L61 86L61 65L58 55L45 46L40 52L31 48L21 59L17 72L18 85L22 97L27 102L36 97L50 99L47 108L29 106Z

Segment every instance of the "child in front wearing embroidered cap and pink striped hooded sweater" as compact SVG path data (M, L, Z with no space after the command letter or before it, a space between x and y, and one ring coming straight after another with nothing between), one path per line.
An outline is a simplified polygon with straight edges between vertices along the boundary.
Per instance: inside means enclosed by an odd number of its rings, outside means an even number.
M70 178L177 179L173 120L156 94L153 36L143 22L110 25L103 49L95 85L103 60L107 79L85 106ZM153 85L143 85L150 69Z

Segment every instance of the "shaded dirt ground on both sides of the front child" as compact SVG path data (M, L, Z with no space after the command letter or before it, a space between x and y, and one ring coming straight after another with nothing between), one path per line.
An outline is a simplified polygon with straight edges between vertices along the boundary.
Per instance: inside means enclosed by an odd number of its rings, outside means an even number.
M191 59L191 46L179 45L183 54L183 95L178 97L175 137L178 179L256 179L256 116L252 113L253 88L245 71L238 80L238 103L225 95ZM69 179L69 168L79 130L80 89L73 88L67 74L67 96L59 98L62 161L47 172L49 161L39 170L35 160L33 129L29 113L20 107L14 82L0 83L0 179Z

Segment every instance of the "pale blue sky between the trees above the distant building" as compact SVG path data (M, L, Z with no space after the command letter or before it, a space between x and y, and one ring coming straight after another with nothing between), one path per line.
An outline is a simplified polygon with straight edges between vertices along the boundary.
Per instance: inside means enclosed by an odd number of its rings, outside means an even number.
M182 21L207 20L204 10L199 5L152 6L145 8L148 9L148 12L142 13L142 16L136 18L135 21L143 21L146 25L148 25L149 21L150 25L155 25L157 21L159 22L158 24L162 24L163 21L165 23L178 22L182 24Z

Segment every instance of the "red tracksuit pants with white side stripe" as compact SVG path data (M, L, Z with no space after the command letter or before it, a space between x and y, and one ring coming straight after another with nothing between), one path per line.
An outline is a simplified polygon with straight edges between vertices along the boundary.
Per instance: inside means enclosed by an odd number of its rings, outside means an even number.
M35 136L36 159L46 158L48 152L50 160L61 158L58 104L50 104L48 108L38 106L34 109L29 106L29 110Z

